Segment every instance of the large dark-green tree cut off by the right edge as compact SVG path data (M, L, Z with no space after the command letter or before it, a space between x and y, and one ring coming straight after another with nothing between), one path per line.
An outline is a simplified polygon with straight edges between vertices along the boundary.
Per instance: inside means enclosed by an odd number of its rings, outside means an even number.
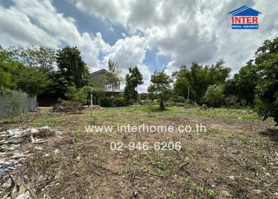
M273 117L278 125L278 38L265 40L255 54L256 109L264 119Z

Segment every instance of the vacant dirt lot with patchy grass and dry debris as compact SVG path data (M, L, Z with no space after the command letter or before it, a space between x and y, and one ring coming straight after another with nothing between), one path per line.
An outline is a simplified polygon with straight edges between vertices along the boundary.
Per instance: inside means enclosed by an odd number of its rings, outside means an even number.
M85 132L85 125L191 125L206 132ZM278 198L278 131L251 110L144 106L26 113L0 121L0 132L50 126L43 143L14 175L36 198ZM181 150L111 150L111 142L181 143ZM28 144L28 143L27 143Z

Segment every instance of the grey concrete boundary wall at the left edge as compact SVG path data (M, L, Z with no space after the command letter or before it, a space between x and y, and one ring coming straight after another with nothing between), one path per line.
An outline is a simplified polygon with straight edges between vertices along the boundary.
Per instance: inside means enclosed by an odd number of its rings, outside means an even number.
M17 106L13 106L17 104ZM0 118L7 118L15 107L16 113L32 111L37 106L37 95L30 95L19 91L10 90L0 95Z

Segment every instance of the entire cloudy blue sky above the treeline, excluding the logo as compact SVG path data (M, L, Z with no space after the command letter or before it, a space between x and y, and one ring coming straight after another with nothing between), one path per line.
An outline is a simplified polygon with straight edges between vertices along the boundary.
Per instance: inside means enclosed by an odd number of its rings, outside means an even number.
M228 13L240 6L263 13L258 30L231 30ZM192 61L223 58L238 72L278 36L277 18L277 0L0 0L0 45L77 46L90 72L109 58L123 76L137 65L144 92L154 70L171 74Z

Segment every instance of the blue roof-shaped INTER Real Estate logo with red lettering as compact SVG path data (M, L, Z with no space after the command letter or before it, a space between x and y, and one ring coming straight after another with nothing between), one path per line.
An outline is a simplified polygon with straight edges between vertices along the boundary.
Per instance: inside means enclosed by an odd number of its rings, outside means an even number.
M231 14L231 29L259 29L259 11L248 6L229 12Z

